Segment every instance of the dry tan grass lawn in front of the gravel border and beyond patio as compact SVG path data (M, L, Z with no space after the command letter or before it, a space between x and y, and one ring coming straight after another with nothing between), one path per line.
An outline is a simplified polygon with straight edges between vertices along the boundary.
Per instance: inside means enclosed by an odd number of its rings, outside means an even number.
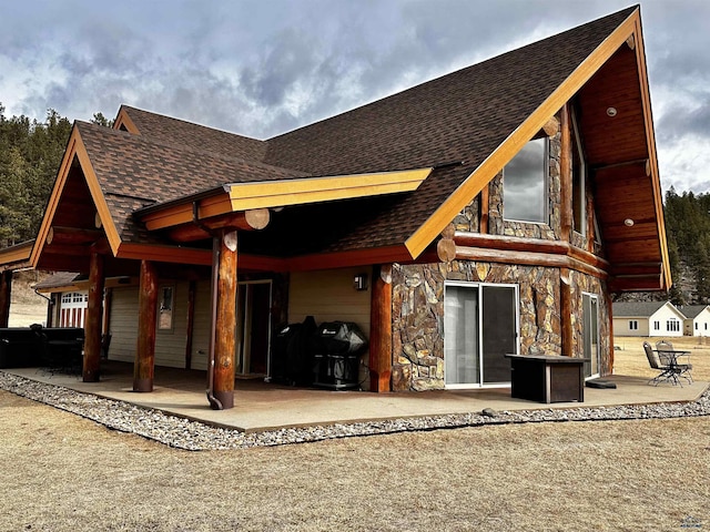
M616 344L618 372L643 374L640 340ZM0 391L0 433L2 531L710 528L709 418L189 452Z

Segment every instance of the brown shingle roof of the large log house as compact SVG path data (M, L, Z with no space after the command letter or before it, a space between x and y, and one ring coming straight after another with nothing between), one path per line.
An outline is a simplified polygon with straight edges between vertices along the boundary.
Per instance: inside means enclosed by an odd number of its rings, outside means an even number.
M132 207L223 183L462 162L435 170L415 193L286 208L258 239L242 241L280 255L402 244L635 9L267 141L129 106L140 135L79 126L121 237L134 241L154 237L129 217Z

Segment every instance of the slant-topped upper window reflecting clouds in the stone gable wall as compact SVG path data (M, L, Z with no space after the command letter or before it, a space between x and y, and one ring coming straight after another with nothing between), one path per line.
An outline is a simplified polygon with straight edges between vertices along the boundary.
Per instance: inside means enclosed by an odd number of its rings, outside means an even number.
M503 170L503 215L547 223L547 137L528 142Z

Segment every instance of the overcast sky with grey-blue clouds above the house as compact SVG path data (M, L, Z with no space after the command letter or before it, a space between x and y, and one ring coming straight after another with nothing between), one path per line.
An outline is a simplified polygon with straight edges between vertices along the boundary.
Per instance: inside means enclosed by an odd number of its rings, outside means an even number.
M0 103L267 139L631 1L0 0ZM710 1L640 3L663 187L710 192Z

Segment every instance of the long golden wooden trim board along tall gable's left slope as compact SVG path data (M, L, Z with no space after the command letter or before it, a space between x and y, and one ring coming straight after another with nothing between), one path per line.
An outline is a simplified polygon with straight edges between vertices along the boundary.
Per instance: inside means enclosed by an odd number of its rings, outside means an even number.
M640 16L637 8L626 21L619 24L619 27L577 66L569 78L567 78L530 116L466 177L464 183L462 183L434 214L407 238L405 245L412 254L412 257L417 257L426 249L444 227L488 185L490 180L500 172L500 168L503 168L530 139L544 129L550 117L584 86L620 45L625 44L629 37L635 35L636 41L640 41L640 34L636 35L639 28ZM642 47L636 48L637 51L639 49L642 49ZM646 78L643 78L643 80L646 80Z

